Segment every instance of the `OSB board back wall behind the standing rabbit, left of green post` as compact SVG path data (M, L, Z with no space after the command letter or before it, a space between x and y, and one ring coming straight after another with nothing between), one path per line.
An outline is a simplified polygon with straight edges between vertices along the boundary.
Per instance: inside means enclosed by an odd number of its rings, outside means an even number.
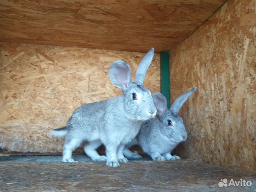
M132 76L145 53L0 43L0 148L10 151L62 151L64 139L49 136L65 126L83 103L121 95L108 68L124 60ZM160 91L159 54L144 85ZM101 121L98 119L97 121Z

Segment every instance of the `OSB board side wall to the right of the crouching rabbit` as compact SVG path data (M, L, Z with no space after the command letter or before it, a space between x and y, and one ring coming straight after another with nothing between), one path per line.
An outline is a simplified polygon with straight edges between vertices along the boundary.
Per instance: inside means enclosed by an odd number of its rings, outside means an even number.
M171 101L198 87L180 112L183 158L256 171L255 7L228 0L171 52Z

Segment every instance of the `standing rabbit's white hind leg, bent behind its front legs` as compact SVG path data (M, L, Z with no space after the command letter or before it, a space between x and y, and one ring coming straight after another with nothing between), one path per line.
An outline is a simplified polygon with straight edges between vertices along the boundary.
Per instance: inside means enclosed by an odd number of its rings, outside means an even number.
M107 156L99 155L96 151L101 144L101 140L90 141L84 146L84 151L94 161L106 161Z

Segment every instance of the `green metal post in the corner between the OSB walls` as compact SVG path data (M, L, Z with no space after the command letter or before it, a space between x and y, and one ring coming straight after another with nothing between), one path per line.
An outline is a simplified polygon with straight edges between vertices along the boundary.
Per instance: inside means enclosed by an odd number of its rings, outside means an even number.
M166 97L168 109L170 108L170 83L169 83L169 52L160 53L161 93Z

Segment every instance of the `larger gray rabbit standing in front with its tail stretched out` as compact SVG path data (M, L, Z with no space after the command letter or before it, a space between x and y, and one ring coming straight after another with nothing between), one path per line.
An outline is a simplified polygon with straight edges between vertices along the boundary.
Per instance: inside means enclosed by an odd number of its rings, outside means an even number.
M123 95L84 104L73 113L66 127L50 131L56 137L66 136L62 162L74 162L72 150L84 141L87 141L84 151L92 160L107 160L106 165L111 167L128 162L123 156L124 146L136 137L142 123L157 113L151 92L143 86L153 56L154 49L151 48L138 66L135 82L132 82L127 63L114 62L109 69L110 79ZM100 156L96 151L102 143L106 146L106 156Z

